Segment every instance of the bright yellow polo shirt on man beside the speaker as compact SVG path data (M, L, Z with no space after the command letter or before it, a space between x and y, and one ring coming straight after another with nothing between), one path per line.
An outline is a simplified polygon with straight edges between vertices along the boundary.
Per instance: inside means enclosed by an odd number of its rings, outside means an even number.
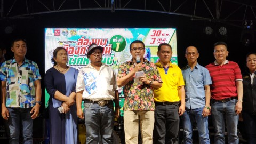
M154 100L158 102L177 102L180 101L178 87L184 86L184 79L180 68L170 62L167 74L161 63L155 63L163 81L160 89L154 89Z

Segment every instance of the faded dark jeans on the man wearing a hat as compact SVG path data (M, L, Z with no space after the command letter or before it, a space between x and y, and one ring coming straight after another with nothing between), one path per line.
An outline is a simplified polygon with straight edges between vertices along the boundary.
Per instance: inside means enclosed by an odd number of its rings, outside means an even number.
M105 106L98 103L84 102L84 117L86 126L86 143L113 143L114 127L113 102Z

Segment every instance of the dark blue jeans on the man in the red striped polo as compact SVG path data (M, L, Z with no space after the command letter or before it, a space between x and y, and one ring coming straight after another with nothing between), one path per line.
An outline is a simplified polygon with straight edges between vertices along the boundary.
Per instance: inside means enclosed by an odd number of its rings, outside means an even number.
M237 136L238 115L235 107L237 100L212 103L212 123L215 129L214 143L225 143L225 122L227 125L228 143L239 143Z

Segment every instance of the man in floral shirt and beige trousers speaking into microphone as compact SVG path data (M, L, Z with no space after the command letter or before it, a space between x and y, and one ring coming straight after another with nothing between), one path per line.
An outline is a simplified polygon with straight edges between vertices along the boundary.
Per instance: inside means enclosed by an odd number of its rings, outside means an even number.
M124 132L126 143L138 143L140 122L143 143L153 143L154 129L154 94L153 89L162 87L160 74L153 62L143 58L145 45L136 40L130 44L132 60L124 62L117 75L117 85L124 86ZM140 60L139 60L139 58ZM143 71L138 83L134 81L135 73Z

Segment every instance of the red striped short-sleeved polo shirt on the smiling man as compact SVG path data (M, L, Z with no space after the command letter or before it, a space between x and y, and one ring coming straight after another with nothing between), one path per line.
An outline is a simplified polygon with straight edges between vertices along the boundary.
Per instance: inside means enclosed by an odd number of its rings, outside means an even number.
M215 100L237 97L235 81L243 81L240 68L236 62L226 60L220 66L216 61L206 66L209 70L212 85L211 98Z

